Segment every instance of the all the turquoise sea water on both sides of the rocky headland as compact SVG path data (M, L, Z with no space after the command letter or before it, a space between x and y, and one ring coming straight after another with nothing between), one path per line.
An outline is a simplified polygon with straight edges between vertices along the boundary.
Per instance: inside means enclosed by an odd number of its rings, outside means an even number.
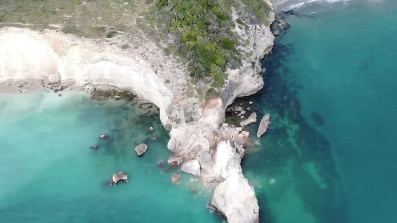
M297 12L264 60L265 88L237 100L271 114L243 160L261 223L396 223L397 4ZM159 141L138 158L149 126ZM171 155L167 141L158 117L120 102L0 95L0 223L222 222L206 208L210 189L188 174L174 185L176 170L157 167ZM105 186L119 171L130 181Z

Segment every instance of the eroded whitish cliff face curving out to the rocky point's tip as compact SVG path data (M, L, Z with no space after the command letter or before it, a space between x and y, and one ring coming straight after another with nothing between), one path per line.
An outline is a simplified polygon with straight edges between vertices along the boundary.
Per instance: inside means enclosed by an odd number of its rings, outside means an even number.
M233 15L236 24L238 18ZM274 14L269 20L274 20ZM204 183L219 183L212 205L230 223L257 223L258 201L240 166L249 133L219 125L236 97L253 94L264 86L260 59L270 52L274 37L264 24L247 24L245 29L236 25L233 32L246 43L238 50L249 56L239 68L226 71L228 80L219 97L206 98L207 86L192 84L186 66L143 37L143 42L123 49L120 42L50 29L0 29L0 82L43 79L54 85L114 87L145 98L160 109L161 122L170 130L168 149L184 162L197 160Z

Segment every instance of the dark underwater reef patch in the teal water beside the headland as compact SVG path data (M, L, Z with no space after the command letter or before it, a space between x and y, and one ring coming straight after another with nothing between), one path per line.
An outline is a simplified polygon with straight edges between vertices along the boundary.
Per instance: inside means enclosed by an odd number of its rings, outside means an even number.
M272 53L263 60L265 88L255 95L237 99L232 105L252 101L251 111L256 111L258 116L271 114L272 129L261 139L262 148L255 156L244 159L243 170L257 176L285 176L283 182L277 182L278 191L283 193L292 186L317 223L344 223L346 201L330 142L301 114L302 105L296 93L302 86L294 81L296 74L283 66L293 47L281 44L281 38L276 39ZM325 123L316 112L312 112L311 117L316 125ZM258 123L251 127L251 134L257 128ZM272 204L267 196L264 190L257 191L260 218L261 222L273 223Z

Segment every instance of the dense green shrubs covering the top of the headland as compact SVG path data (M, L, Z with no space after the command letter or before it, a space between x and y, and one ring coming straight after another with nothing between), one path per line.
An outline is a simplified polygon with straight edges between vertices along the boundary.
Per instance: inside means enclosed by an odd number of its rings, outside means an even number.
M213 87L222 87L227 80L226 68L241 64L239 41L231 31L235 26L232 6L240 8L244 6L241 2L258 21L268 25L265 10L269 6L263 0L154 0L157 21L180 37L173 48L187 59L192 77L211 77ZM237 22L248 27L240 18ZM170 47L166 54L170 54Z

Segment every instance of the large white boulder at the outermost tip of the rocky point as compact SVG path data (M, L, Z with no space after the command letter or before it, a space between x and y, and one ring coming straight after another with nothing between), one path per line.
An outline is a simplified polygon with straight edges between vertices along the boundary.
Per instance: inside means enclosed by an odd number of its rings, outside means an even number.
M259 223L254 188L242 173L231 175L215 188L211 206L221 212L228 223Z

